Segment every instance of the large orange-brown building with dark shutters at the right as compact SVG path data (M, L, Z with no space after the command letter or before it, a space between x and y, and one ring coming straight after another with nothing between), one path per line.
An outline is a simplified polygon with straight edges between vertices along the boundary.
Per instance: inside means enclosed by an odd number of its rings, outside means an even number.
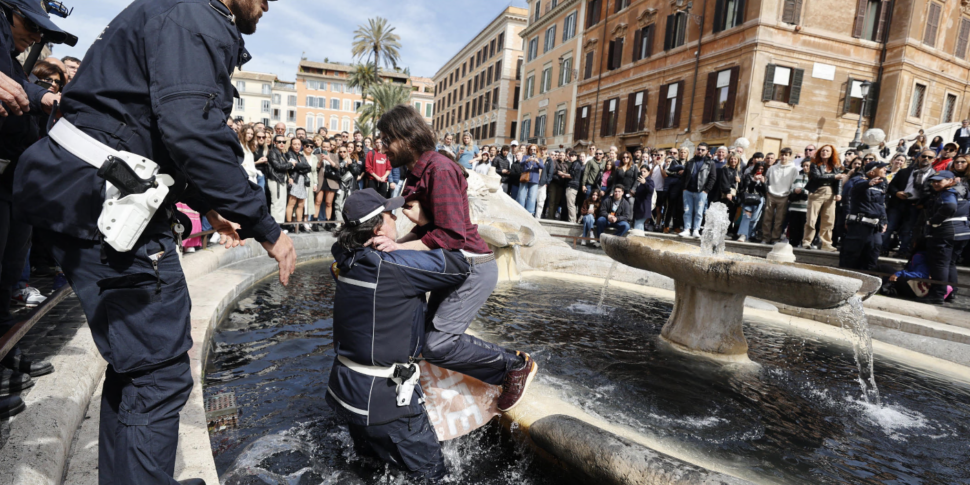
M860 116L889 139L957 121L968 111L968 3L587 2L576 144L744 137L749 152L776 152L847 146Z

